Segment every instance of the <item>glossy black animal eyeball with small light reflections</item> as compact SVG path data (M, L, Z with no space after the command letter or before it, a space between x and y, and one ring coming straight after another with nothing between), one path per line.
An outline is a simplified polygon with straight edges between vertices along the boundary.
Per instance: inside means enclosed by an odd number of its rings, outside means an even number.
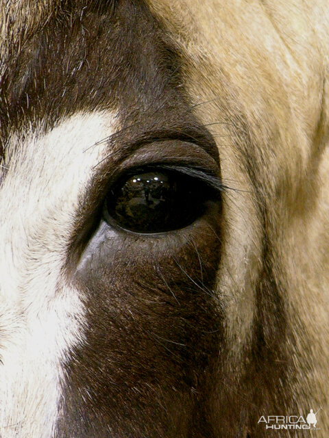
M149 170L121 180L110 190L104 218L136 233L182 229L202 216L206 184L173 170Z

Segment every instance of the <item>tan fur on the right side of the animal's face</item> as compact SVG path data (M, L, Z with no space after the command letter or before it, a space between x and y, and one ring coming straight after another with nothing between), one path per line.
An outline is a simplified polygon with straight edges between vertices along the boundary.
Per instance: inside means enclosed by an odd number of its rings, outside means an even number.
M180 47L186 56L186 83L193 101L229 95L233 105L236 101L243 106L254 139L247 153L264 163L260 179L263 190L270 196L276 272L289 292L284 296L289 303L291 329L287 349L298 374L291 376L287 391L294 394L301 412L313 405L322 408L321 430L314 436L326 437L329 430L328 4L321 0L210 0L202 5L193 0L149 3L169 27L173 38L177 39L177 33L180 36ZM197 107L197 114L204 123L225 123L220 110L216 101L212 101ZM251 193L240 192L226 199L228 224L232 228L227 231L226 256L219 271L225 275L234 261L236 271L232 281L245 285L228 302L228 335L236 354L233 360L239 365L252 320L250 302L254 297L247 291L252 281L250 272L257 269L259 224L252 222L253 188L241 173L239 151L227 135L231 130L220 124L210 129L223 136L218 146L224 158L221 164L224 181L233 179L237 187ZM267 149L269 145L272 150ZM244 146L240 142L239 147ZM244 242L244 247L236 242ZM244 252L241 260L236 257L239 251ZM234 285L229 284L228 290L232 289ZM236 385L238 391L239 387ZM289 407L282 407L281 415L288 411Z

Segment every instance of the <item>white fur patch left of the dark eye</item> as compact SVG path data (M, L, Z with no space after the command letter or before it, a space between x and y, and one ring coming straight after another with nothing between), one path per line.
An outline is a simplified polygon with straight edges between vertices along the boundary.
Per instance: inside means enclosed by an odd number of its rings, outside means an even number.
M0 188L0 437L49 438L62 364L81 342L79 291L62 276L79 196L117 129L112 114L77 114L45 133L12 136ZM88 149L89 148L89 149Z

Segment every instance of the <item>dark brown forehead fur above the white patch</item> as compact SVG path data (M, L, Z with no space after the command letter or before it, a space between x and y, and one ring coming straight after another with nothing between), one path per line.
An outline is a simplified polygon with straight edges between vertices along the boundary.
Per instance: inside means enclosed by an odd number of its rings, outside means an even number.
M90 1L45 3L42 11L24 8L34 19L29 16L23 25L22 16L3 55L2 139L5 130L42 118L51 126L64 114L115 105L134 117L138 105L145 110L165 94L175 100L168 95L178 81L172 42L142 1L113 5ZM9 24L4 28L12 34Z

